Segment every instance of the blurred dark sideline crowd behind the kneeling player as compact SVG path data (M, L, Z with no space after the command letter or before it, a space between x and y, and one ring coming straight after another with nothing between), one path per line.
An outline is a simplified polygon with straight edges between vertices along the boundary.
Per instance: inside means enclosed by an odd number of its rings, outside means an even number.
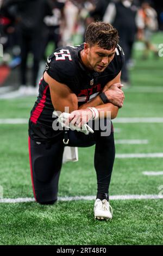
M155 60L159 57L159 42L152 41L163 30L159 1L0 0L0 96L37 95L47 56L60 46L84 42L92 21L117 28L126 55L122 70L126 88L132 86L134 47L141 51L142 60L151 54Z

